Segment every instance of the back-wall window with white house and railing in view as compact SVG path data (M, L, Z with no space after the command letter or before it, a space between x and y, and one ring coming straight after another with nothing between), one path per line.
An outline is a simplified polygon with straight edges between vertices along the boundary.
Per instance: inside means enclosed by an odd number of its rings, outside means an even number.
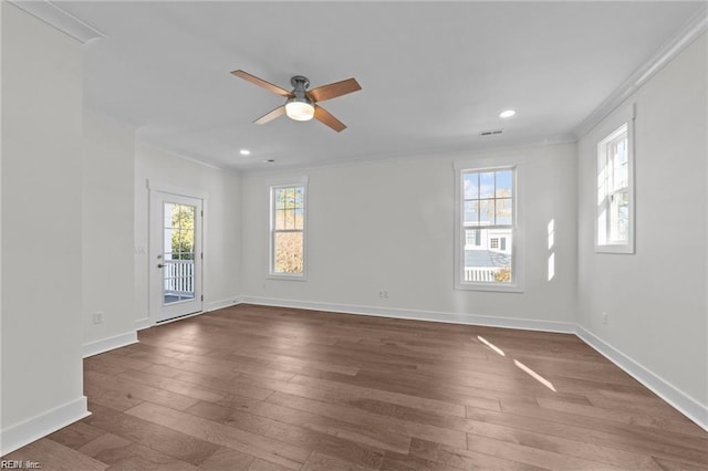
M516 167L459 169L457 176L456 287L521 291Z

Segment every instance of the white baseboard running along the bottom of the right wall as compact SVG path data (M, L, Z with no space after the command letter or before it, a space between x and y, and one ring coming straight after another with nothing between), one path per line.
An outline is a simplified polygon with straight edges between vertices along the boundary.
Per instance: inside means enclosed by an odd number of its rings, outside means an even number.
M696 422L700 428L708 431L708 407L698 402L693 397L677 389L674 385L646 368L642 364L634 360L628 355L620 352L592 332L579 325L575 332L583 342L596 349L601 355L610 362L617 365L625 373L637 381L642 383L648 389L654 391L662 399L667 401L671 407Z

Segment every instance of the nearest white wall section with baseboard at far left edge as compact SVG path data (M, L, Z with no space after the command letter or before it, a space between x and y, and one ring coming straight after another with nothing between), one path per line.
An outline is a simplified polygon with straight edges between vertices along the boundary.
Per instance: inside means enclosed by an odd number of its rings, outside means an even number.
M2 8L6 453L86 412L81 318L81 44Z

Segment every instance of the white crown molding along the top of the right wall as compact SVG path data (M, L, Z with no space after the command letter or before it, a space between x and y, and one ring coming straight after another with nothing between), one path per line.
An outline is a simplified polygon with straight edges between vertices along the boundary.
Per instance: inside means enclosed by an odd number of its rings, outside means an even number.
M597 123L620 106L666 64L671 62L698 36L708 31L708 7L698 11L654 55L632 73L604 102L573 129L576 139L586 135Z

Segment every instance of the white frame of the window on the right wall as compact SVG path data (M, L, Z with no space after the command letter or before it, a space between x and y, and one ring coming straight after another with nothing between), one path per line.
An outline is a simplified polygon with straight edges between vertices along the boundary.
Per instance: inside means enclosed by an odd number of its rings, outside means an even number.
M595 151L595 227L594 227L594 241L596 253L620 253L620 254L633 254L635 253L635 180L634 180L634 105L631 105L624 109L621 109L616 115L597 129L595 135L596 151ZM611 213L610 207L612 205L611 196L620 192L624 193L624 189L617 191L616 189L610 189L606 185L607 177L603 172L607 168L611 159L607 148L617 138L626 133L627 139L627 240L626 241L613 241L610 238ZM602 191L602 196L601 196ZM601 232L604 229L604 234Z

